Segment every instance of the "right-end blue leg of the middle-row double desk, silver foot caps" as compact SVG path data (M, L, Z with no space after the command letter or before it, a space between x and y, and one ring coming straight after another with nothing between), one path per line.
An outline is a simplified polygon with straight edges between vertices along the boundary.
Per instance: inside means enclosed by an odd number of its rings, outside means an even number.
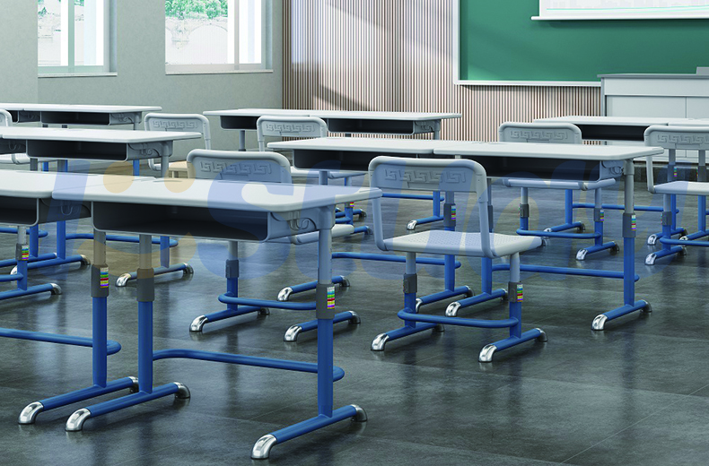
M642 310L652 312L652 307L647 301L635 300L635 211L634 211L634 182L635 164L633 160L626 160L624 169L626 177L625 201L626 211L623 213L623 306L617 307L607 313L597 315L593 319L591 328L596 331L603 330L606 322L617 319L623 315Z

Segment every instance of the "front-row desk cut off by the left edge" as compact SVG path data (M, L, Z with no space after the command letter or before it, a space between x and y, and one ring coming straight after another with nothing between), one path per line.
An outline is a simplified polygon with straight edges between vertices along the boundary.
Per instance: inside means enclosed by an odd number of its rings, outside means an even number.
M0 282L17 281L17 289L0 293L0 298L17 298L43 292L50 292L53 295L61 293L61 288L54 283L27 286L29 251L24 229L38 223L87 218L90 216L90 206L81 201L54 201L52 193L55 190L68 187L83 189L83 187L92 184L101 184L101 186L110 186L111 189L120 190L120 185L130 183L130 179L131 177L120 176L103 177L75 173L0 170L0 223L18 225L15 247L17 273L0 277ZM93 272L95 274L101 271L95 269ZM106 280L108 280L108 276ZM106 285L108 286L108 281L106 281ZM107 377L108 357L117 353L121 347L117 341L108 340L105 300L94 299L92 304L91 338L0 328L0 337L3 338L43 341L92 349L92 385L72 393L31 403L22 410L19 418L20 424L33 423L42 411L54 410L93 396L137 387L135 377L123 377L109 382Z

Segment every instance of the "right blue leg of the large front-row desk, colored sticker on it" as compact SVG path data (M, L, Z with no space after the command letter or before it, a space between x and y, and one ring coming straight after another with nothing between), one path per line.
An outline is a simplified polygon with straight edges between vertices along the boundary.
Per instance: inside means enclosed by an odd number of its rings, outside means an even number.
M332 233L330 230L320 230L319 233L319 267L318 267L318 302L316 315L318 317L318 416L307 419L290 427L271 432L262 436L251 450L254 460L267 459L271 448L275 444L283 444L297 436L302 436L321 427L330 426L345 419L358 422L367 420L367 415L362 408L349 405L333 410L333 336L332 317L335 314L333 306L328 306L328 295L334 293L330 276L332 273L330 244Z

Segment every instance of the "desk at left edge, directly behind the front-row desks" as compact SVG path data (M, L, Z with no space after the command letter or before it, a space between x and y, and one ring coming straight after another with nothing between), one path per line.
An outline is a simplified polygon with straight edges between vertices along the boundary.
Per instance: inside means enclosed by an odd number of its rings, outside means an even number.
M66 129L10 126L0 128L0 153L25 152L34 159L59 160L59 171L66 171L68 160L131 161L161 159L167 167L172 143L197 139L199 133L155 132L143 130ZM162 174L165 175L164 173ZM32 242L32 241L31 241ZM30 251L30 269L63 263L88 263L82 255L66 256L66 224L57 222L57 253L39 255ZM13 265L4 261L0 266ZM169 238L161 238L161 264L158 274L190 272L188 264L170 265Z

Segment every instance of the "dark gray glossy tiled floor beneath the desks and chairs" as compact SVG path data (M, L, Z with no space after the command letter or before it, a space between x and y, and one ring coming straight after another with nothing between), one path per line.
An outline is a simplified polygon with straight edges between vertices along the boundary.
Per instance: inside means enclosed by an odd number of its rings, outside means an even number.
M651 202L636 186L638 203ZM617 189L607 202L617 202ZM540 225L561 218L563 194L532 192L532 212ZM477 225L472 200L459 200L460 226ZM659 205L659 197L652 198ZM430 205L386 201L386 214L398 217L398 232ZM685 226L696 227L696 202L680 202ZM516 227L517 193L495 186L496 229ZM577 211L589 228L590 212ZM709 453L709 313L705 263L709 253L692 249L687 257L643 265L653 249L643 238L659 229L658 213L638 212L636 268L642 280L638 298L652 303L652 315L630 315L605 332L592 332L595 315L622 302L618 280L525 274L524 327L542 327L546 344L532 342L477 362L478 351L501 331L456 328L390 342L384 353L369 350L372 338L400 325L402 267L390 263L337 260L350 289L339 289L337 306L356 310L362 324L336 326L336 364L346 377L336 385L336 405L357 403L367 410L364 425L342 422L277 445L267 464L501 464L578 465L706 464ZM620 215L607 211L608 237L619 236ZM365 220L371 221L371 218ZM534 222L536 223L537 220ZM74 227L75 228L75 227ZM425 229L426 227L422 227ZM438 228L438 227L433 227ZM88 231L83 222L80 229ZM43 240L51 249L52 235ZM198 246L197 246L198 245ZM582 242L554 240L522 257L523 263L577 264ZM111 244L112 272L133 269L135 246ZM74 249L91 254L91 243ZM339 240L336 250L376 250L371 237ZM0 251L13 252L13 237L0 237ZM314 246L243 246L243 296L274 298L286 284L314 276ZM158 279L155 301L156 349L193 348L274 358L314 361L314 335L297 343L282 340L290 325L311 313L272 311L232 322L207 324L190 335L188 324L220 310L223 243L181 238L176 260L195 266L195 275ZM479 290L479 261L461 259L458 283ZM600 253L582 264L620 270L621 256ZM261 271L270 271L265 277ZM442 269L420 271L421 293L442 288ZM89 274L66 266L32 274L33 282L52 280L65 294L0 303L0 325L44 332L90 335ZM505 274L495 274L498 286ZM8 285L4 285L6 289ZM109 338L123 350L109 358L109 376L136 375L135 287L111 288ZM312 298L307 297L296 299ZM444 304L425 307L441 315ZM503 303L466 309L460 315L495 318ZM87 403L39 416L34 426L16 418L31 401L80 388L91 381L91 351L31 341L0 340L0 463L4 464L249 464L251 445L279 427L310 418L316 410L315 379L256 367L233 367L182 359L155 364L157 384L179 381L189 401L158 401L90 419L81 433L66 433L64 422ZM114 398L108 395L103 399Z

